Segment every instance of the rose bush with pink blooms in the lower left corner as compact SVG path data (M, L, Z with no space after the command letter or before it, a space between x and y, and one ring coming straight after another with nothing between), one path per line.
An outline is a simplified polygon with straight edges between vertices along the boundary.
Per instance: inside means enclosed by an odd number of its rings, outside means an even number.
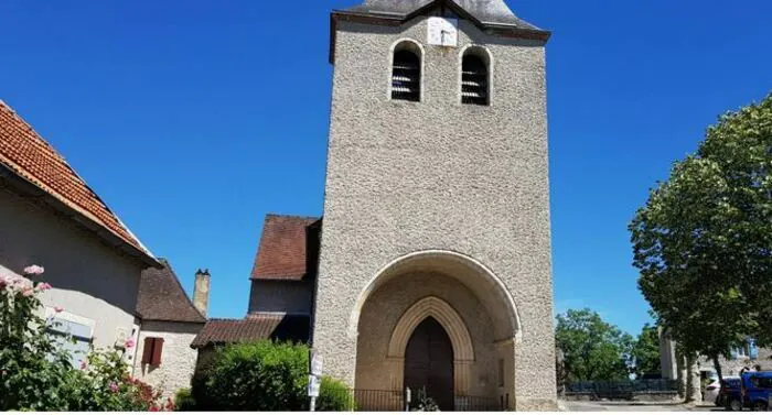
M79 369L73 368L72 356L58 347L61 336L47 330L53 319L41 317L39 295L51 290L35 281L43 272L32 265L24 279L0 274L0 411L174 409L171 400L132 379L116 351L92 350Z

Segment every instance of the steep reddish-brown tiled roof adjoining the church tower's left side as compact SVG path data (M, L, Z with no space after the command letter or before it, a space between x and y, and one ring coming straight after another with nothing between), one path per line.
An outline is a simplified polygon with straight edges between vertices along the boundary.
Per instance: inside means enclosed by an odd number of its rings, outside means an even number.
M309 238L309 227L319 220L299 216L266 216L251 279L302 280L309 275L319 250L318 242Z

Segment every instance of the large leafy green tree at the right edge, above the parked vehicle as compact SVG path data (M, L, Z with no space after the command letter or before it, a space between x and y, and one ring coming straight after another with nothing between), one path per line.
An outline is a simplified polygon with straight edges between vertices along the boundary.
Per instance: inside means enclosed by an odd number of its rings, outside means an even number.
M772 340L772 96L719 118L633 219L639 287L685 353Z

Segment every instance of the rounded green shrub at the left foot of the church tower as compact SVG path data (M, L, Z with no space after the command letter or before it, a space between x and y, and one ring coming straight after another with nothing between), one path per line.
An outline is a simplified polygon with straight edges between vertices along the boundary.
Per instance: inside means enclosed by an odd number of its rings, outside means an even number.
M308 409L308 350L270 340L218 350L193 382L196 409Z

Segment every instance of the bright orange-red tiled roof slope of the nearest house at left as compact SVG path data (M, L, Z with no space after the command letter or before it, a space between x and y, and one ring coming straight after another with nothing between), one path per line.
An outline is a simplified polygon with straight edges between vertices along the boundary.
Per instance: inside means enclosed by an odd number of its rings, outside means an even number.
M0 164L149 254L99 196L11 107L0 100Z

